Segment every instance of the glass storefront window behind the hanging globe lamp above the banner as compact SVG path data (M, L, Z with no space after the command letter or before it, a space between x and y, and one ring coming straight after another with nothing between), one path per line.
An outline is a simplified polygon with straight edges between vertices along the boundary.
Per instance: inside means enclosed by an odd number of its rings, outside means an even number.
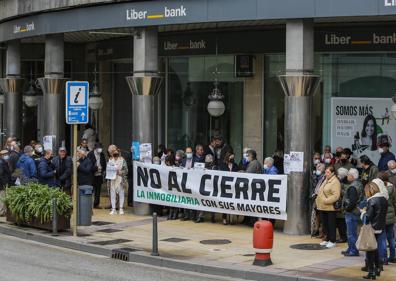
M168 61L167 146L184 149L208 144L221 134L240 155L243 143L243 80L234 77L234 56L171 57ZM226 110L207 111L217 77Z

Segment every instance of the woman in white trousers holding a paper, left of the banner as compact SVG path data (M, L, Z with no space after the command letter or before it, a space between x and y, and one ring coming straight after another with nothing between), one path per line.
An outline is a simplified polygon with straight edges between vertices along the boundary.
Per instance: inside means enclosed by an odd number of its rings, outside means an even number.
M111 212L110 215L116 215L116 196L119 196L119 214L124 214L124 198L126 176L128 174L128 166L125 159L120 155L120 151L115 145L108 148L110 155L106 166L106 179L108 180L108 188L110 189Z

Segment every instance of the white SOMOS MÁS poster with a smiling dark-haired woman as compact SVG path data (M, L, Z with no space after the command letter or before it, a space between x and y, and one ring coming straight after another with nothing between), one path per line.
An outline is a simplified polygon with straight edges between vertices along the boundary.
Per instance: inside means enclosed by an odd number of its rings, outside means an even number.
M380 158L378 138L388 135L396 140L396 120L387 98L332 98L331 146L350 148L354 157L367 155L377 164ZM392 144L392 143L391 143ZM395 153L392 146L390 150Z

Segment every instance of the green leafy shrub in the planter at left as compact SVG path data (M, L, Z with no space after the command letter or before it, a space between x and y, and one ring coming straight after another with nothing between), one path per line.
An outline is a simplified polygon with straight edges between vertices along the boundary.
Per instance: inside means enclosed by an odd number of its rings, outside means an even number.
M69 218L73 208L70 196L58 188L50 188L47 185L28 183L18 187L9 187L6 189L4 203L17 223L30 222L32 219L47 223L52 219L52 199L54 198L58 216Z

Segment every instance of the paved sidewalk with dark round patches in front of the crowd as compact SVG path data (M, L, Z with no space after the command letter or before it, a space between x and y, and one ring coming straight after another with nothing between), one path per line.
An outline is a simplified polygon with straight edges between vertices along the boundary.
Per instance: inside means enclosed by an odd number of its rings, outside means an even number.
M93 216L95 225L79 227L81 235L79 237L72 237L70 233L62 233L57 239L95 246L95 249L103 249L103 253L109 253L117 248L130 248L136 254L149 257L152 241L151 217L135 216L131 210L127 210L124 216L110 216L108 213L109 210L95 209ZM0 227L18 228L5 224L4 221L5 218L0 218L0 222L2 222ZM216 224L210 222L196 224L191 221L167 221L165 218L159 218L158 229L161 258L181 262L178 265L181 269L199 271L193 265L207 265L218 268L219 272L222 269L227 269L238 274L238 270L241 270L257 273L257 276L262 273L285 275L295 278L294 280L310 277L329 280L361 280L364 275L360 271L364 261L363 255L345 258L340 254L346 244L326 250L296 250L291 249L290 246L319 243L320 241L309 236L288 236L276 232L271 255L274 265L262 268L252 265L254 252L251 227L224 226L220 223L220 219ZM30 228L23 228L23 230L30 234L51 237L45 231ZM147 259L147 262L155 263L155 259ZM162 265L164 266L163 263ZM395 276L396 265L385 266L385 272L381 275L380 280L394 281ZM247 278L246 275L233 277Z

